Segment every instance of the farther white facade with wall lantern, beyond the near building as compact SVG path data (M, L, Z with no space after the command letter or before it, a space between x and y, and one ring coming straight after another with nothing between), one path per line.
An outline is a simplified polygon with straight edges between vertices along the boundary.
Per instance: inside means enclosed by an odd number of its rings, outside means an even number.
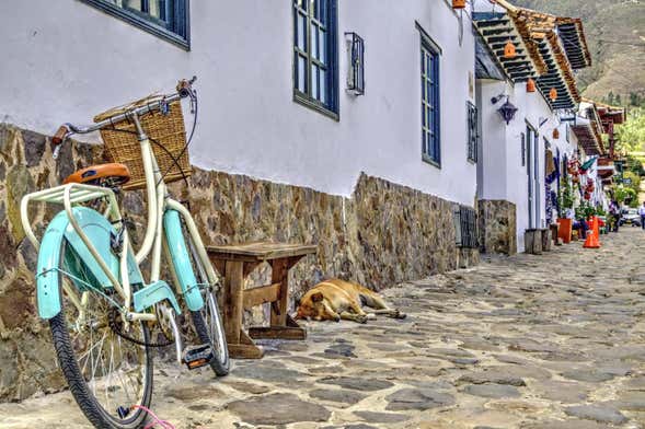
M508 125L497 112L506 97L496 104L492 103L492 98L500 94L508 95L509 102L518 108ZM551 151L554 154L560 151L561 156L571 156L577 142L573 134L569 134L567 141L567 124L560 121L558 115L551 111L539 92L527 93L525 83L477 80L477 102L482 121L477 196L480 199L507 200L516 205L517 246L518 252L523 252L525 231L529 228L548 228L544 173L546 142ZM527 127L534 129L538 142L535 148L534 141L529 146L525 140L522 154L522 136L526 139ZM558 139L553 138L554 129L558 129ZM534 192L530 205L528 163L534 162L535 154L538 163L533 163L537 167L533 173L537 172L537 175L533 175Z

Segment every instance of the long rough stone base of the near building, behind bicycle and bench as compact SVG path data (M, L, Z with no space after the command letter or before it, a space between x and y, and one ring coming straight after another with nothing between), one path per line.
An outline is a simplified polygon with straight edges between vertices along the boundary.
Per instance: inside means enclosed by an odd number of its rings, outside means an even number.
M24 240L20 199L59 184L78 167L101 162L101 146L68 144L55 163L45 136L0 125L0 401L65 386L49 331L35 311L37 255ZM452 202L377 177L361 175L352 198L199 169L187 187L183 182L170 187L176 198L188 201L206 243L318 244L318 255L291 270L293 298L323 278L379 290L479 260L476 251L454 244ZM122 198L137 247L146 228L143 194L128 192ZM54 213L45 207L32 209L35 230L42 233ZM269 276L265 266L251 281L266 282ZM261 321L266 314L250 316Z

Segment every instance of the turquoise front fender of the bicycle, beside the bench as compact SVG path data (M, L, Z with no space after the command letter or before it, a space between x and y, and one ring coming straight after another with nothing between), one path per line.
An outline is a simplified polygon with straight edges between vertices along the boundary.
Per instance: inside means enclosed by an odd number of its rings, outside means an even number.
M191 263L189 251L186 246L186 240L182 232L180 213L176 210L166 210L163 213L163 230L165 241L172 259L172 264L182 288L182 294L186 301L186 306L191 311L199 311L204 306L204 299L199 292L199 286L193 264Z

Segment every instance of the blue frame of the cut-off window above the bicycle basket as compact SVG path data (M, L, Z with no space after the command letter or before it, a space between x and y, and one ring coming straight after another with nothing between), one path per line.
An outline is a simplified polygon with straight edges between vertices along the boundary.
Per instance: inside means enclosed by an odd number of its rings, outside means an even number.
M152 19L148 19L142 13L119 8L106 0L81 0L81 2L96 8L111 16L117 18L127 22L147 33L153 34L157 37L170 42L185 50L191 50L191 0L176 0L180 2L177 13L183 18L183 25L185 27L185 36L170 31L162 25L156 23Z

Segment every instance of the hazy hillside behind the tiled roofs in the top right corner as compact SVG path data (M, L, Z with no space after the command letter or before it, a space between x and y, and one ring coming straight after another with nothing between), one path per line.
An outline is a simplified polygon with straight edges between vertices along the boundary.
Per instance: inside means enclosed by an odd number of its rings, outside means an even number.
M643 0L515 0L516 5L581 18L594 65L578 73L584 95L614 104L645 104ZM611 93L611 96L610 96Z

